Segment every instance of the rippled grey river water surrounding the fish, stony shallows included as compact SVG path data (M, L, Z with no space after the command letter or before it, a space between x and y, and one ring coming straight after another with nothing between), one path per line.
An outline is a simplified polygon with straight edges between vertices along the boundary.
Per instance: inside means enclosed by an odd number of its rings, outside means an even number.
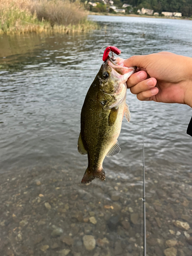
M0 37L0 254L140 255L143 109L147 255L191 255L191 109L142 103L127 91L131 121L123 119L121 153L104 160L105 182L80 183L87 157L77 140L101 47L115 45L123 58L159 51L192 57L192 23L90 19L101 30Z

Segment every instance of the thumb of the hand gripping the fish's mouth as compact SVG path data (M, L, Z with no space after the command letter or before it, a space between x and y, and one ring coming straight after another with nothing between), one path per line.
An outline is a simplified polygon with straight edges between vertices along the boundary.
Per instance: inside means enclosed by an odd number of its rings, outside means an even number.
M123 64L125 67L134 67L146 69L148 55L134 55L129 59L125 59Z

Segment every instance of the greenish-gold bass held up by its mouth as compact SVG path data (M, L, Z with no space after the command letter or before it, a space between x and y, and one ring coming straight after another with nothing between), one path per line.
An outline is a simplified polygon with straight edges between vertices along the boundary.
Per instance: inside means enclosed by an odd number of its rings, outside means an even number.
M126 104L126 80L136 71L136 67L125 67L123 61L120 57L108 57L84 99L77 148L80 154L88 155L88 167L81 183L95 178L104 181L105 156L114 156L121 150L117 139L122 119L125 115L130 121L131 117Z

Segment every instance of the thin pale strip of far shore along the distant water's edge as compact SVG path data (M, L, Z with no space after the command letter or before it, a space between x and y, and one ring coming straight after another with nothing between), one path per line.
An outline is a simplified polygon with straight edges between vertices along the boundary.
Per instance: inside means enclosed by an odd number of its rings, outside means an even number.
M122 13L110 13L110 12L88 12L89 15L103 15L103 16L126 16L126 17L141 17L141 18L168 18L168 19L187 19L187 20L191 20L191 18L186 17L186 18L182 18L182 17L167 17L167 16L154 16L154 15L139 15L139 14L122 14Z

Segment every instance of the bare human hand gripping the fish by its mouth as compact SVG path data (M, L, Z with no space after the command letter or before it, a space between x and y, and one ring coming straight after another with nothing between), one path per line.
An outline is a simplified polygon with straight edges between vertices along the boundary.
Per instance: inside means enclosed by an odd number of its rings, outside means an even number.
M139 100L182 103L192 108L192 58L169 52L132 56L124 66L140 71L127 80Z

